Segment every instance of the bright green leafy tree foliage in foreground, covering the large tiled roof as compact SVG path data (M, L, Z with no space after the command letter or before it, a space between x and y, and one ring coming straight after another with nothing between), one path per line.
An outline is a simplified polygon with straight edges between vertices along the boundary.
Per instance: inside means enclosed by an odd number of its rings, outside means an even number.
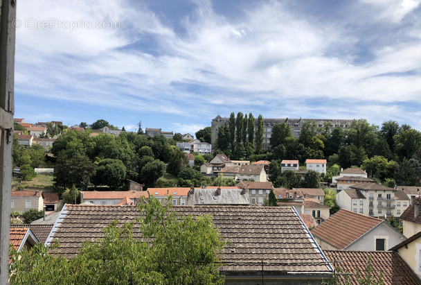
M224 241L210 216L179 216L156 198L139 203L143 218L114 221L105 237L85 241L69 262L39 243L11 249L12 284L224 284L217 270ZM139 228L144 239L134 237ZM153 239L152 239L153 237Z

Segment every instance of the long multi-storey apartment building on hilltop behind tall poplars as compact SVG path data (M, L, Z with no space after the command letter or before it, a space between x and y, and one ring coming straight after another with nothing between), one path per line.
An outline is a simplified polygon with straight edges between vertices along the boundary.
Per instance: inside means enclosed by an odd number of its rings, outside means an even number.
M352 121L354 120L335 120L335 119L263 119L263 124L265 125L265 133L263 134L263 143L265 144L265 149L270 148L270 138L272 134L272 128L277 123L285 123L291 128L291 135L295 138L300 137L301 129L303 128L303 123L305 121L310 121L316 123L316 126L319 128L324 128L325 123L330 123L330 129L336 127L341 127L343 129L348 128ZM258 119L255 119L254 128L256 130L258 124ZM212 135L211 135L211 144L215 145L216 139L218 137L218 128L220 126L229 126L229 118L222 118L222 116L217 115L215 119L211 122Z

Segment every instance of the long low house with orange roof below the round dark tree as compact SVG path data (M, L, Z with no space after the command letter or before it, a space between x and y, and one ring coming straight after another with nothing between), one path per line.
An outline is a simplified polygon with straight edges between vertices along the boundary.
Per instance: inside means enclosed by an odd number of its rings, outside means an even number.
M143 196L143 191L80 191L80 202L90 202L93 205L118 205L129 198L136 205Z

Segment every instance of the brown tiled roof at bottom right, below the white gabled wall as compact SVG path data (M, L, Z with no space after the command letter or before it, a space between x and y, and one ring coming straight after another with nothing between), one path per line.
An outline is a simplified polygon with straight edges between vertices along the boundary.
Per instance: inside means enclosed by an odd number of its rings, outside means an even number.
M331 261L332 266L338 266L344 273L351 273L346 275L350 279L350 284L359 284L355 276L357 269L360 275L366 276L368 257L373 266L373 275L378 280L382 272L382 281L385 285L421 283L397 252L352 250L324 250L323 252ZM339 282L345 282L345 275L339 275Z

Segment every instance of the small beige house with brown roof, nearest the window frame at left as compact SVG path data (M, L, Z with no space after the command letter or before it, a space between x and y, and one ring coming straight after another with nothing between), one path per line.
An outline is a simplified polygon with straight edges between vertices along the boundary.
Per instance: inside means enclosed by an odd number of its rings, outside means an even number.
M10 198L10 213L19 211L24 213L28 209L44 209L44 200L42 199L42 191L12 191Z

